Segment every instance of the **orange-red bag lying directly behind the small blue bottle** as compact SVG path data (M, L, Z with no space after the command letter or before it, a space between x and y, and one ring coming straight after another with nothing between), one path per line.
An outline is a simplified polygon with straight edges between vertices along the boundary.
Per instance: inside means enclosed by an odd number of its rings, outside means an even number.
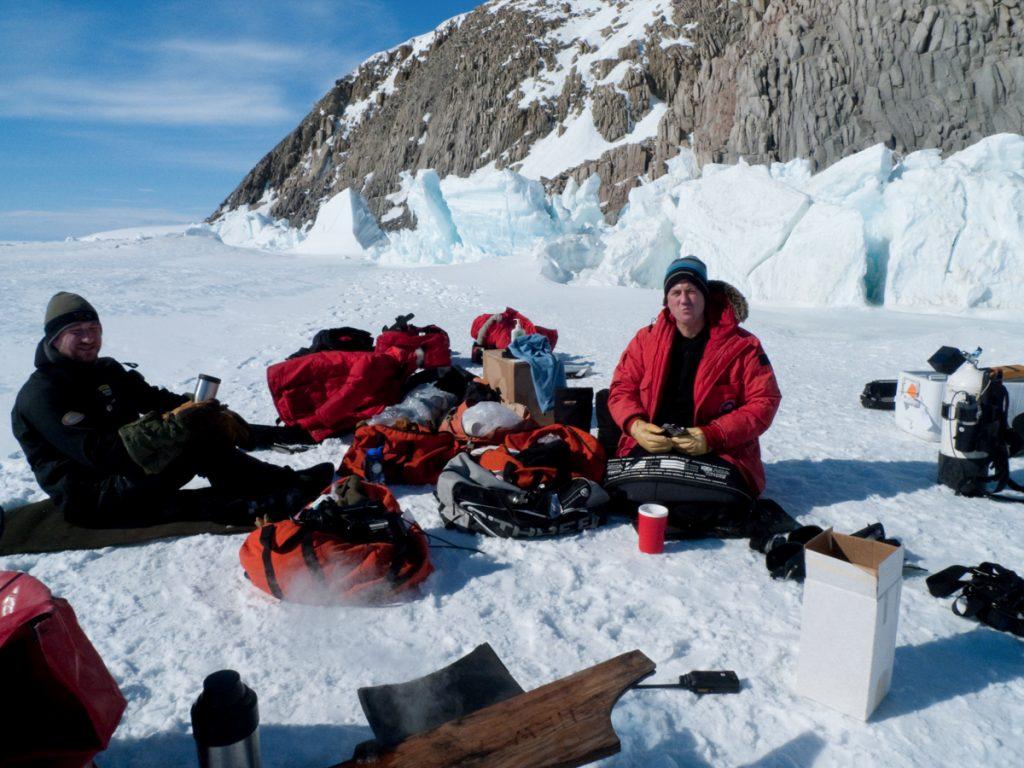
M341 462L343 472L362 477L367 449L383 449L384 477L389 483L432 485L444 465L459 453L459 440L451 432L398 429L364 424L355 430L352 444Z

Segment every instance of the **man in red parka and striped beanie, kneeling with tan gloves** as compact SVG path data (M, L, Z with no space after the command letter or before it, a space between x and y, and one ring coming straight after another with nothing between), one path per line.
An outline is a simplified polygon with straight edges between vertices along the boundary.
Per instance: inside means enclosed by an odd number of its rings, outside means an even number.
M617 456L711 453L739 471L752 496L761 495L758 437L781 394L761 342L739 327L746 314L742 295L709 283L700 259L669 265L665 308L633 337L611 379L608 411L623 430ZM673 437L664 424L685 430Z

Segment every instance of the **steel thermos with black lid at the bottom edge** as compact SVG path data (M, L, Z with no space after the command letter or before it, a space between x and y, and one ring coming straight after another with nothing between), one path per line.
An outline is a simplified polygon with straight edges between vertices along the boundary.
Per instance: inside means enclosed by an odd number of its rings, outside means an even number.
M256 693L234 670L203 681L191 720L200 768L260 768Z

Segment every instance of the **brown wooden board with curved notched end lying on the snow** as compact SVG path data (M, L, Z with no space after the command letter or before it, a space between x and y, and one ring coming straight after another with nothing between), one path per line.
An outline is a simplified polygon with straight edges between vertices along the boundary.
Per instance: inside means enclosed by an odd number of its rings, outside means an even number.
M334 768L574 768L615 755L615 701L654 673L639 650L413 736L376 758Z

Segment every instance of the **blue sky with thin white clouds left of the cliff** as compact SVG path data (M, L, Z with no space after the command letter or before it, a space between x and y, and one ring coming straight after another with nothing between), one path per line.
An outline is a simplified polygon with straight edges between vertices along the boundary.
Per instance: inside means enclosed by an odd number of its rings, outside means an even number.
M370 54L479 0L0 0L0 240L205 218Z

